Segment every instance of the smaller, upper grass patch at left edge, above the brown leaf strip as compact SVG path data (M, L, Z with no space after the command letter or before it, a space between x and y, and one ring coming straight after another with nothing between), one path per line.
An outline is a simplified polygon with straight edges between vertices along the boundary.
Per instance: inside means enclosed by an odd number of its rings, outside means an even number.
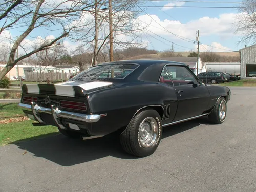
M18 108L18 103L0 103L0 119L17 116L24 116L22 109Z

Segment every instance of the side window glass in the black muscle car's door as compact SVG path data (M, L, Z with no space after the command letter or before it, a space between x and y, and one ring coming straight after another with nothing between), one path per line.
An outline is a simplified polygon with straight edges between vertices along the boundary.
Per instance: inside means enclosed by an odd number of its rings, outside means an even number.
M197 79L191 70L183 66L166 66L167 71L172 76L174 86L184 84L197 84Z

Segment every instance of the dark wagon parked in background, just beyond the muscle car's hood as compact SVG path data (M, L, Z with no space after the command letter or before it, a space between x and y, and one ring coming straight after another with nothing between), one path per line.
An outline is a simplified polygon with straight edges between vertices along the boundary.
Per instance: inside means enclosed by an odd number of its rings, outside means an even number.
M203 83L223 83L225 82L225 76L222 72L202 72L197 75L199 79L203 80Z

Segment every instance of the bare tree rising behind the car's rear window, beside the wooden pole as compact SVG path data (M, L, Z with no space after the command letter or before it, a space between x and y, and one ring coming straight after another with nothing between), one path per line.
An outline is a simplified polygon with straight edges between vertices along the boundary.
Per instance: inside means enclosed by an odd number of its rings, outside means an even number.
M113 25L113 46L116 49L129 47L143 47L141 34L145 23L140 23L137 16L143 11L139 5L144 3L144 0L112 0L112 25ZM93 65L98 61L98 56L102 57L108 54L104 49L109 50L109 11L108 1L95 0L95 7L90 12L92 22L79 30L73 36L74 40L84 42L84 45L93 46L94 59ZM149 24L148 24L149 25ZM85 35L86 34L86 35ZM88 35L90 34L90 35ZM108 56L109 57L109 56Z

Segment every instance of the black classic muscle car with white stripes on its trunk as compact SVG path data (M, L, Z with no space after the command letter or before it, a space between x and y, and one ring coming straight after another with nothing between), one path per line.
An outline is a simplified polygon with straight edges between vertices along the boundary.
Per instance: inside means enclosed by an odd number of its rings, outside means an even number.
M183 63L125 60L90 67L59 84L24 84L19 106L34 125L53 125L68 137L118 133L139 157L157 149L162 127L208 116L221 124L231 92L203 84Z

